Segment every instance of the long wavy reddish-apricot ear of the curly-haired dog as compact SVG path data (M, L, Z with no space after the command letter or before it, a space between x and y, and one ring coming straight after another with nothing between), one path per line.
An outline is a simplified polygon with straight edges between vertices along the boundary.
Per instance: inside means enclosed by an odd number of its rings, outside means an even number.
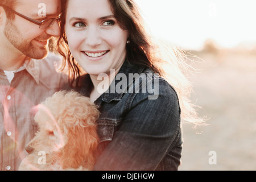
M61 151L60 163L63 169L92 169L98 145L97 129L94 125L68 127L68 142Z

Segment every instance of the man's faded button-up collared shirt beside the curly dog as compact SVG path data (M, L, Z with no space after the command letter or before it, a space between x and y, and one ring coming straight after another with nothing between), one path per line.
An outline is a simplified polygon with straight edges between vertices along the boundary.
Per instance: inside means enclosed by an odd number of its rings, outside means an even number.
M37 130L35 106L67 83L57 71L60 61L53 53L43 60L27 59L11 84L0 69L0 170L18 170Z

